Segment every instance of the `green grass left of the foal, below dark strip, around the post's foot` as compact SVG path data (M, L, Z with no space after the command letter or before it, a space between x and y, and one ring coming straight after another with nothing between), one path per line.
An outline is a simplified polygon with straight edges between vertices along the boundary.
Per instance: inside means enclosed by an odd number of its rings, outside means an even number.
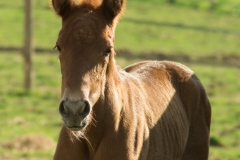
M2 53L0 62L0 116L3 126L0 133L0 144L14 143L14 139L26 134L40 134L57 140L61 126L58 117L57 104L59 101L60 72L57 57L41 55L35 64L35 90L23 90L22 57L16 53ZM4 61L8 60L8 63ZM55 73L55 74L53 74ZM54 117L54 118L53 118ZM17 142L15 142L17 143ZM55 146L54 146L55 147ZM9 159L49 159L51 151L22 152L14 148L0 149L1 155L10 156ZM4 157L2 157L3 159Z

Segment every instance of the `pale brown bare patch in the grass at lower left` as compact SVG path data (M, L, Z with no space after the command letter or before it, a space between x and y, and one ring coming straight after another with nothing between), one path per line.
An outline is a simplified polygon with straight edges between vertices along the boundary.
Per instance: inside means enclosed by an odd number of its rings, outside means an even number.
M19 151L52 151L55 149L55 142L41 134L28 134L16 137L12 141L0 144L6 149L16 149Z

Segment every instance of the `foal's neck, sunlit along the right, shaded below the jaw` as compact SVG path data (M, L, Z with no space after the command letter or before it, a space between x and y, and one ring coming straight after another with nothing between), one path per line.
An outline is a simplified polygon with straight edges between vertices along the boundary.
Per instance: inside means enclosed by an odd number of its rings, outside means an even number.
M86 129L85 138L88 141L90 152L94 154L101 140L108 132L118 129L120 120L122 98L120 69L115 64L114 56L111 55L106 73L106 82L103 95L93 107L92 123Z

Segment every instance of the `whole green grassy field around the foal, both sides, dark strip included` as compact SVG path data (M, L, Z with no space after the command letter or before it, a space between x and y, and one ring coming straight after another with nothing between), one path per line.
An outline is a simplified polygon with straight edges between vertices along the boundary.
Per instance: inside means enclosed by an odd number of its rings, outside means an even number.
M141 3L140 3L141 2ZM116 31L122 68L146 59L179 61L195 71L212 105L210 160L240 159L240 3L212 12L207 1L128 1ZM221 4L220 4L221 2ZM35 0L34 88L23 89L22 1L0 2L0 159L51 159L61 127L61 75L52 51L60 18Z

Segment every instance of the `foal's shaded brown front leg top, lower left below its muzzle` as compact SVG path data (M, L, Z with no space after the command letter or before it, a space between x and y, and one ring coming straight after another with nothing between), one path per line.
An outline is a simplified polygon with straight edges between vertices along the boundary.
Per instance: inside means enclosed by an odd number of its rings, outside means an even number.
M88 160L88 149L84 141L72 139L68 129L63 126L54 154L54 160Z

